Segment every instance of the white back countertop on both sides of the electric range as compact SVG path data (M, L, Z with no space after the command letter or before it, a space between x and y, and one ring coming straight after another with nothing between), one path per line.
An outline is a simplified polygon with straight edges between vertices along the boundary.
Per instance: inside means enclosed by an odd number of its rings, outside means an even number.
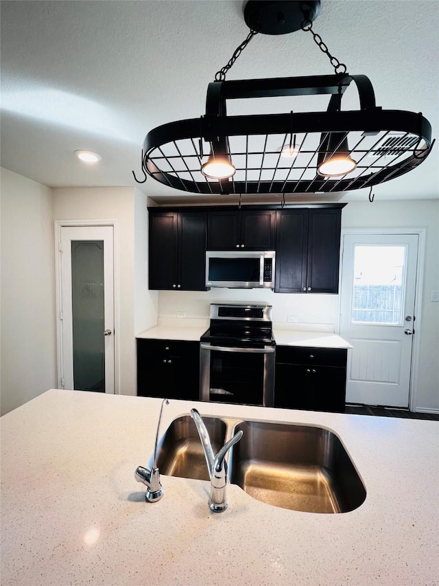
M194 320L195 321L195 320ZM181 322L180 322L181 323ZM209 322L201 324L154 326L137 335L141 339L170 339L198 341L209 328ZM295 330L273 324L273 335L278 346L308 346L313 348L352 348L342 337L331 333L315 330Z

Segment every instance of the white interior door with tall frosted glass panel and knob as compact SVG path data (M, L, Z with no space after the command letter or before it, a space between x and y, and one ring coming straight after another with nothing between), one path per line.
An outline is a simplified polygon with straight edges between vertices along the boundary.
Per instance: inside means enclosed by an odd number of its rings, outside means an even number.
M115 392L112 226L60 227L60 383Z

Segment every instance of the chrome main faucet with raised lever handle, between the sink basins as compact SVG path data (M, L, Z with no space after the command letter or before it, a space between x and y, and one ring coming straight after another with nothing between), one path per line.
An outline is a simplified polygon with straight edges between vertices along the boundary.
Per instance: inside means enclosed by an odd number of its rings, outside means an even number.
M195 422L198 435L200 436L201 444L206 457L207 469L209 470L209 477L211 479L211 495L209 497L209 508L214 512L222 512L226 510L228 501L226 499L226 485L227 485L227 462L225 460L228 450L239 442L242 437L242 431L233 436L224 446L218 451L217 455L213 453L211 439L209 432L204 425L202 416L197 409L191 409L191 417Z

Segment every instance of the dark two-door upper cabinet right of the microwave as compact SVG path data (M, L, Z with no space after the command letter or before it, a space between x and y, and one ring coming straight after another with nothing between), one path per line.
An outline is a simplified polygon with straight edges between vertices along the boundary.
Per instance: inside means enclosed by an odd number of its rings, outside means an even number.
M276 212L276 293L337 293L341 208Z

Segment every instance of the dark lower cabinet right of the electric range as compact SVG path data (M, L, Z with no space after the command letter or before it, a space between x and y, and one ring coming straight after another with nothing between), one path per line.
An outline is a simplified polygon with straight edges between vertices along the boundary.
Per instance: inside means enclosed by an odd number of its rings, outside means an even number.
M344 413L345 348L276 346L274 407Z

